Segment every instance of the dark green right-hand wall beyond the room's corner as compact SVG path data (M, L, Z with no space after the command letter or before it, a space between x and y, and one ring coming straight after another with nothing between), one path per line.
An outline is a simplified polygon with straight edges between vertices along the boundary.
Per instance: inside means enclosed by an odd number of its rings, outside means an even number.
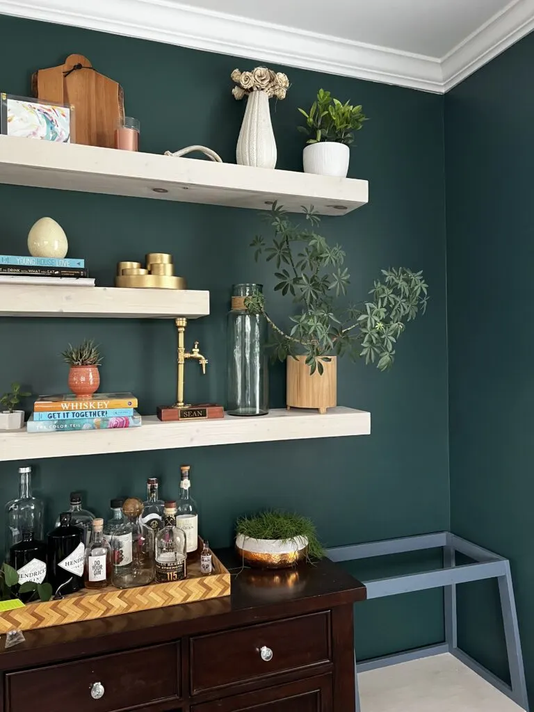
M534 35L446 95L451 524L509 557L534 690ZM460 587L460 644L508 674L496 585Z

